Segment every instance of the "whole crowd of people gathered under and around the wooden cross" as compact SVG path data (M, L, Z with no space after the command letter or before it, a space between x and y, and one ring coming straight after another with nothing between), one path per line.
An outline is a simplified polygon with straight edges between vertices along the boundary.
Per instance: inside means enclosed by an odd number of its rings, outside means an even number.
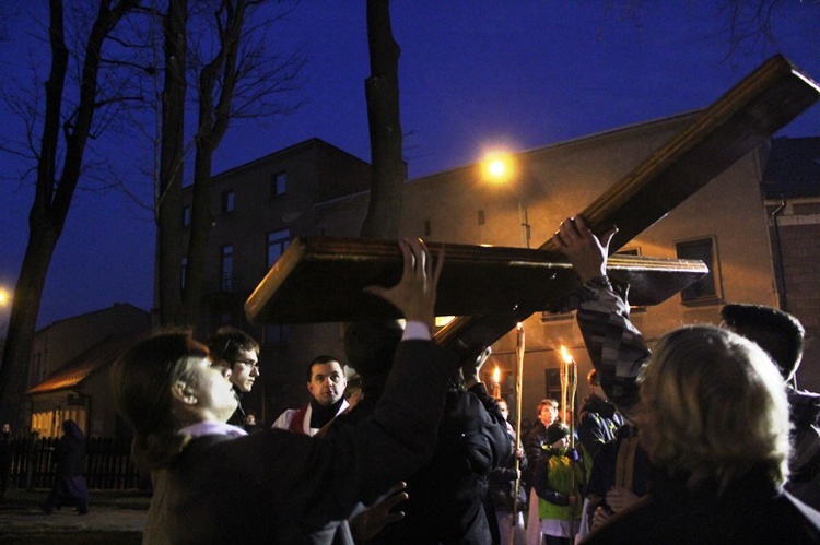
M110 377L153 479L144 543L820 543L820 395L796 388L799 321L730 304L719 327L651 351L606 275L611 235L582 217L554 235L581 280L588 396L569 423L540 401L520 437L479 379L490 349L460 362L432 341L446 257L421 240L400 242L396 286L366 288L405 324L347 324L355 377L314 358L309 401L272 427L242 406L260 374L246 333L136 344ZM87 512L66 460L43 509Z

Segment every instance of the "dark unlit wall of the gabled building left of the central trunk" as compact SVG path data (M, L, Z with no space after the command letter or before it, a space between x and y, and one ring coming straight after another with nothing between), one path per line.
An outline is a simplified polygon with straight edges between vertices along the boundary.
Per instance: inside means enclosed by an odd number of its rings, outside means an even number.
M279 173L285 174L286 192L274 196L271 177ZM283 408L306 401L304 366L309 359L318 354L339 354L341 358L342 352L338 324L291 325L280 342L279 328L251 324L245 318L244 303L269 270L268 234L289 229L291 237L358 235L361 221L342 229L329 226L326 210L316 203L362 193L370 188L370 176L367 163L313 139L214 177L206 304L197 335L204 340L220 325L231 323L260 342L260 379L243 399L243 406L253 408L260 422L270 424ZM221 211L225 191L235 193L233 212ZM189 205L190 200L191 188L187 188L184 204ZM226 245L233 246L234 256L234 279L227 289L220 276L220 250Z

